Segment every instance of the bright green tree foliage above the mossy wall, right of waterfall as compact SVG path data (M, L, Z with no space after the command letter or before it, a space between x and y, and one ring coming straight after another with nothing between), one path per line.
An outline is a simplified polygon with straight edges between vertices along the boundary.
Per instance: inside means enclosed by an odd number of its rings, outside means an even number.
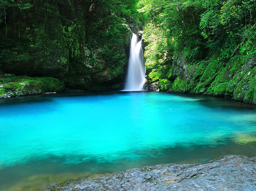
M228 62L256 53L255 0L140 0L149 79L168 76L172 58ZM162 77L161 77L162 76Z

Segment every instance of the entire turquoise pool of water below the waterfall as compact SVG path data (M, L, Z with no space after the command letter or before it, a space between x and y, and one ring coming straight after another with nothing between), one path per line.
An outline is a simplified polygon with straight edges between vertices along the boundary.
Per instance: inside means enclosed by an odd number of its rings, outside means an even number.
M256 154L256 107L220 98L161 92L14 98L0 100L0 122L0 190L42 174Z

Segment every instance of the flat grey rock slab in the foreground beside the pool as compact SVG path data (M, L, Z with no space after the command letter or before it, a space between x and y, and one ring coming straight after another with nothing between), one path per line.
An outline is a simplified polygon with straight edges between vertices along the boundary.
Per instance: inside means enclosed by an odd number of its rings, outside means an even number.
M161 164L68 180L46 191L256 190L256 156L226 155L199 164Z

